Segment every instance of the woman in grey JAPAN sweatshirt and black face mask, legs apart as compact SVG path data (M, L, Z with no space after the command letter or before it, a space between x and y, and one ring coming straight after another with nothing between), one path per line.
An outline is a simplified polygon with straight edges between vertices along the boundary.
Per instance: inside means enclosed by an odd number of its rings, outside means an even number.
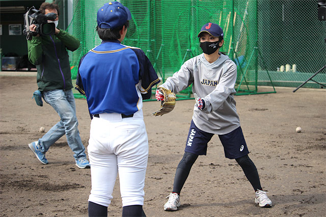
M235 159L252 184L255 203L260 207L271 207L271 201L261 188L257 168L248 156L233 97L237 69L235 63L220 52L223 36L218 24L206 23L198 34L203 53L187 60L178 72L160 85L176 94L193 84L196 98L184 155L176 169L173 191L164 205L166 211L176 211L180 206L180 192L191 167L199 155L206 155L207 143L214 134L219 135L225 157ZM155 96L162 100L159 90Z

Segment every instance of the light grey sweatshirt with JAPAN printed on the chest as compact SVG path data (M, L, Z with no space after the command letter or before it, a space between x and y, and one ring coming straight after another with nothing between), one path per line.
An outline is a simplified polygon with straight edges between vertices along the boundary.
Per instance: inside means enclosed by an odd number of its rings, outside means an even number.
M202 131L224 135L240 127L235 108L236 65L220 53L214 63L208 63L204 54L187 60L181 69L160 86L175 94L193 84L193 93L205 100L201 111L194 105L193 121Z

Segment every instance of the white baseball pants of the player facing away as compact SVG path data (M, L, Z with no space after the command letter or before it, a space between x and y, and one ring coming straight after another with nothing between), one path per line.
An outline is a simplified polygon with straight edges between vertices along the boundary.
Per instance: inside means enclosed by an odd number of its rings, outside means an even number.
M144 205L148 138L142 116L121 118L112 113L92 119L87 147L92 179L88 201L108 206L119 172L123 206Z

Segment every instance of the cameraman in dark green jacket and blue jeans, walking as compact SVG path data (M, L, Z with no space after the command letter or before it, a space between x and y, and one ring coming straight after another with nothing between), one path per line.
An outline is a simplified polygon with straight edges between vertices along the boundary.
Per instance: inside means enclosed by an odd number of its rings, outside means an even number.
M42 14L55 13L57 18L53 22L56 25L55 35L44 36L38 34L28 40L29 60L37 67L37 85L34 97L36 102L42 99L51 105L59 114L60 121L53 126L38 141L29 144L29 147L42 164L48 164L45 152L58 139L66 134L67 142L74 152L76 166L78 168L90 168L86 159L85 147L80 139L78 121L76 117L75 101L72 93L72 81L67 50L74 51L79 47L79 40L62 29L58 29L59 7L52 3L42 3ZM30 25L30 31L36 32L36 25ZM37 94L38 93L38 94Z

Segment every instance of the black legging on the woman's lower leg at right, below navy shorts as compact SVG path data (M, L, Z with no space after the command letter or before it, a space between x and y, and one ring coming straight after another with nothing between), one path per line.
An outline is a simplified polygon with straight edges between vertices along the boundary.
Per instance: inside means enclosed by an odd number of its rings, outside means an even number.
M262 190L257 168L248 155L235 159L255 191Z

